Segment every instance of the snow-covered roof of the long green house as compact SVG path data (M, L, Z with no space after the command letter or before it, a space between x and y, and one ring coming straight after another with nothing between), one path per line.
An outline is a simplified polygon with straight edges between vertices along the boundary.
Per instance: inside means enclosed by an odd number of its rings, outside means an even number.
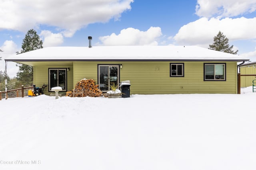
M6 61L248 61L244 57L197 46L46 47Z

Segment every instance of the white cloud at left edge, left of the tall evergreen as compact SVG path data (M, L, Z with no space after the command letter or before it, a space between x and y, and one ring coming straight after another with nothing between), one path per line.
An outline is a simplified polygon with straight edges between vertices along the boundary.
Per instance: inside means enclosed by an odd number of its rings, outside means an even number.
M13 41L8 41L8 40L4 41L4 44L0 47L0 49L3 51L3 52L0 52L0 57L2 57L2 60L0 60L0 70L4 71L5 69L4 59L8 58L10 55L16 55L16 51L18 51L19 49ZM19 69L16 66L16 63L14 62L7 63L8 76L15 77L18 70Z

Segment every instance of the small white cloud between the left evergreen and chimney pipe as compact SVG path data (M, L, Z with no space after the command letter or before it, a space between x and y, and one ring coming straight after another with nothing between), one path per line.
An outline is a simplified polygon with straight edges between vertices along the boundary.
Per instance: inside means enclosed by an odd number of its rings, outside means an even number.
M63 35L61 33L52 33L51 31L43 30L40 33L40 37L44 41L44 47L58 46L63 43Z

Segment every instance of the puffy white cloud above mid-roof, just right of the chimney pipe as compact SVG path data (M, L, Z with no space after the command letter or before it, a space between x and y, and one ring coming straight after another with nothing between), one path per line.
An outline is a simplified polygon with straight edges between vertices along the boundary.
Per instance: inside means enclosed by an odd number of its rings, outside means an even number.
M157 39L161 35L160 27L150 27L147 31L127 28L122 29L118 35L112 33L99 39L102 45L158 45Z

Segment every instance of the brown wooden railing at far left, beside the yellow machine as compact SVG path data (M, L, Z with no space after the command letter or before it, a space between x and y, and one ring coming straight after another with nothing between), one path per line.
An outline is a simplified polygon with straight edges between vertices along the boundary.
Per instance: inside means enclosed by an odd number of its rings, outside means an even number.
M2 98L18 98L18 97L24 97L28 96L28 90L34 89L34 86L24 87L23 85L21 88L13 89L13 90L7 90L7 92L0 92L0 100ZM5 97L6 94L6 97ZM4 97L3 97L4 96Z

